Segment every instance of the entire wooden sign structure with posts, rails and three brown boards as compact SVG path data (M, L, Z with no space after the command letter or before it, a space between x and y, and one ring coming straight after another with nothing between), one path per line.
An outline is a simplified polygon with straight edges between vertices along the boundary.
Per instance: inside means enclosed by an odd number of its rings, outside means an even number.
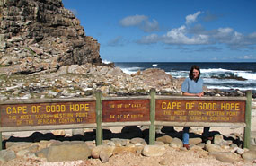
M186 97L156 95L90 98L5 100L0 102L2 132L45 129L96 128L102 144L102 127L149 126L154 144L155 126L243 127L244 147L250 147L252 92L246 97ZM2 149L2 146L1 146Z

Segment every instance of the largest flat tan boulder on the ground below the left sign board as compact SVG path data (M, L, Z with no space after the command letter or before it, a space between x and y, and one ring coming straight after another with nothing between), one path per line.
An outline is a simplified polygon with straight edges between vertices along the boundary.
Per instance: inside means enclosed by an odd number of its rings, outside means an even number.
M55 144L49 147L47 160L49 162L86 160L90 156L91 150L84 142Z

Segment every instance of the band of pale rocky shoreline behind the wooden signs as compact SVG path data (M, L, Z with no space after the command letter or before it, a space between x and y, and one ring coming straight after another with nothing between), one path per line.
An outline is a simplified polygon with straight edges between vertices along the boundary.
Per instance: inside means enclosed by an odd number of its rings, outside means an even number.
M61 66L57 72L36 74L12 74L12 70L0 72L1 100L81 98L93 95L97 90L103 96L147 95L151 88L157 94L181 95L184 78L173 78L158 68L125 74L119 67L92 64ZM207 96L245 96L245 92L208 90ZM256 94L252 93L252 98Z

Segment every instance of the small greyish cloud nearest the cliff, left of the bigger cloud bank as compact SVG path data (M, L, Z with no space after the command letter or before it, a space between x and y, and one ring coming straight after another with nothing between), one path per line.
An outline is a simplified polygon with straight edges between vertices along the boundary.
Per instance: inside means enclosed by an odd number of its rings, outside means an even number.
M154 19L152 22L150 22L148 17L145 15L134 15L125 17L119 21L119 24L123 27L137 26L139 29L145 32L159 30L158 22Z

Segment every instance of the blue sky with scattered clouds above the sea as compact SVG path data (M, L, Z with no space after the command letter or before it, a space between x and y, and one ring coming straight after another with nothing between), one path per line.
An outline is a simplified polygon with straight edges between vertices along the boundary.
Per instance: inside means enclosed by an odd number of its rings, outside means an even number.
M63 0L110 62L256 62L256 0Z

